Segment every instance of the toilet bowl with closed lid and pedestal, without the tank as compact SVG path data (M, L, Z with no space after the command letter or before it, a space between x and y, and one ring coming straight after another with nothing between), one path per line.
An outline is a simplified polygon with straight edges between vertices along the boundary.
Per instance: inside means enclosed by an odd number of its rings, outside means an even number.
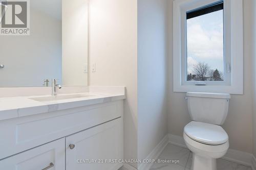
M218 125L190 122L184 128L183 137L193 153L191 170L216 170L216 160L229 148L228 135Z

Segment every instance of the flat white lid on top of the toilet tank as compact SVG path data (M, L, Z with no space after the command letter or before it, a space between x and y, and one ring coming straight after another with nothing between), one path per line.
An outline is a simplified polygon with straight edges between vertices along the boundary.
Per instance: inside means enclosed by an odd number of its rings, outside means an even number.
M187 92L186 96L197 98L230 99L230 94L226 93Z

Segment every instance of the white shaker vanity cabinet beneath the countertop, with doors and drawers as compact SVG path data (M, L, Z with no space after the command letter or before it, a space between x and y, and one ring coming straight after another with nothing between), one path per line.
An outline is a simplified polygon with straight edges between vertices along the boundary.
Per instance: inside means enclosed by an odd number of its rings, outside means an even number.
M122 100L3 120L0 128L0 144L5 146L0 169L117 170L122 166L118 161L123 159Z

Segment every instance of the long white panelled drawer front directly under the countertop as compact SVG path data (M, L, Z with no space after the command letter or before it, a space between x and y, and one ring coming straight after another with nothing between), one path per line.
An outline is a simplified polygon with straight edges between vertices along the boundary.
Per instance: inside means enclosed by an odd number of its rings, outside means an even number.
M108 122L123 114L123 101L0 121L0 159Z

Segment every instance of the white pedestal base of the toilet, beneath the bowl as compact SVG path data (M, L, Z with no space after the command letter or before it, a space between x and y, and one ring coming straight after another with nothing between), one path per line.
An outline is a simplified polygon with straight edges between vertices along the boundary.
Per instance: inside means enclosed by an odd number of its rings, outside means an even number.
M193 153L191 170L217 170L217 159Z

